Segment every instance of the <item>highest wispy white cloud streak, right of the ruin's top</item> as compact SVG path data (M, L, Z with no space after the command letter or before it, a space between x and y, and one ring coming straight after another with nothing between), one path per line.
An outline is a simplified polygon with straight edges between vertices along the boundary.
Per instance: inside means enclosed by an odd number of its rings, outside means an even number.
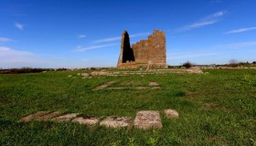
M179 28L178 31L187 31L187 30L199 28L202 26L213 25L215 23L218 23L221 20L221 17L224 16L226 13L227 13L226 11L216 12L210 16L204 17L200 21L194 22L187 26L183 26L183 27Z

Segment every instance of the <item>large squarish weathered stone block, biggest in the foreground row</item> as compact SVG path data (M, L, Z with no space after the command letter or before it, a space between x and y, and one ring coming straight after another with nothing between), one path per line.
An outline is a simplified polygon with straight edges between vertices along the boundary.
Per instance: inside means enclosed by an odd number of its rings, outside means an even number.
M156 110L138 111L134 120L134 127L138 129L161 129L163 127L160 113Z

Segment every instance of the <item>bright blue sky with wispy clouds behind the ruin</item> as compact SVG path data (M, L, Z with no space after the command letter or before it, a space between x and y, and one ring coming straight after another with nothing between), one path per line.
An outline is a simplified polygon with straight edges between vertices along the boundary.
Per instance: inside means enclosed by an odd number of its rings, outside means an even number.
M115 67L164 30L167 64L256 60L255 0L1 0L0 68Z

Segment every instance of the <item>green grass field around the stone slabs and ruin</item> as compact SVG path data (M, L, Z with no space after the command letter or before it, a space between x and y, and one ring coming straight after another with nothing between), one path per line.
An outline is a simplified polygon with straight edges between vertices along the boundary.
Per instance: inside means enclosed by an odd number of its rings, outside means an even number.
M255 69L101 78L77 75L82 72L0 74L0 145L256 145ZM132 88L92 90L112 80L112 87ZM150 81L161 89L133 89ZM177 110L179 118L166 119L166 109ZM39 110L133 118L139 110L159 110L163 129L18 122Z

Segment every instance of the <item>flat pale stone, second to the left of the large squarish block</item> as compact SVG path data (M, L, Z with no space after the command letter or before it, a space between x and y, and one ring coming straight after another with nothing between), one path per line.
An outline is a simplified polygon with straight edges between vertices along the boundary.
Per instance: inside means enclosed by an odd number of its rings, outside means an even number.
M100 117L97 116L80 116L74 120L74 122L80 123L80 124L85 124L89 126L96 125L100 121Z

